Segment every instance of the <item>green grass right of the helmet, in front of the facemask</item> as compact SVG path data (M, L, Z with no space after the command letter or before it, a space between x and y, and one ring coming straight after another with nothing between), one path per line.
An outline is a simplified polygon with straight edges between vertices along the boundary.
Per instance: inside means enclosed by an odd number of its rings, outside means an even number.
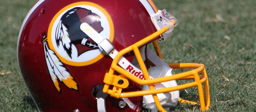
M256 111L256 1L161 2L155 0L158 8L166 8L179 20L171 40L161 46L166 63L205 64L210 111ZM183 98L189 99L189 93L195 90L187 91L188 95ZM175 111L200 109L183 104L178 106Z

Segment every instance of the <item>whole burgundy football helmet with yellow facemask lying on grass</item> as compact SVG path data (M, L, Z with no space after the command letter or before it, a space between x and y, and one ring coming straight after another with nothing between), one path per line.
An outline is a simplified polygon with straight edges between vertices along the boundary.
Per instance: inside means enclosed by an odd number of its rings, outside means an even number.
M207 110L204 65L162 59L158 41L177 24L151 0L38 0L19 32L21 76L43 112L165 112L178 101ZM171 74L179 68L193 69ZM175 81L186 79L194 81ZM179 90L192 87L200 103L179 98Z

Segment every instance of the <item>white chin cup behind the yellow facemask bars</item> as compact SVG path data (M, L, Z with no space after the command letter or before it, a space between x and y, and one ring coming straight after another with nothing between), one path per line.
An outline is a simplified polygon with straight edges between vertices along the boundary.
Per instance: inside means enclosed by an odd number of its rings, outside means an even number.
M148 72L150 77L158 78L158 77L164 77L164 76L171 76L172 75L171 70L172 68L170 67L166 67L165 65L160 65L160 66L149 68ZM174 86L177 86L177 83L175 80L163 82L161 84L160 83L154 84L155 89L169 88ZM142 90L149 90L148 85L143 85ZM177 102L179 100L179 91L159 93L157 94L157 96L162 107L165 108L166 111L168 111L169 108L175 107L177 105ZM142 106L150 110L156 110L156 111L158 110L156 107L156 104L154 103L154 99L152 95L143 96Z

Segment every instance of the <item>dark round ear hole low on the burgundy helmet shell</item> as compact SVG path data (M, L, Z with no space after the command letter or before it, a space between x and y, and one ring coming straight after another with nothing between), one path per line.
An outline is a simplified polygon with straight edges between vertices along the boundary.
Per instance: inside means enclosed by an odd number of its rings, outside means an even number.
M94 88L92 89L92 95L94 96L95 99L98 99L98 98L105 99L107 97L108 94L102 92L103 87L104 86L102 84L98 84L94 86Z

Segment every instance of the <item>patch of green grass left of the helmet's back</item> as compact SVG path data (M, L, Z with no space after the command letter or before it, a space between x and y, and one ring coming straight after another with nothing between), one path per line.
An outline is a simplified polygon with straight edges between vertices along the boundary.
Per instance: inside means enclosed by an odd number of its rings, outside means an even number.
M23 19L36 0L1 0L0 111L33 112L33 104L17 64L17 38ZM30 102L32 102L30 100Z

